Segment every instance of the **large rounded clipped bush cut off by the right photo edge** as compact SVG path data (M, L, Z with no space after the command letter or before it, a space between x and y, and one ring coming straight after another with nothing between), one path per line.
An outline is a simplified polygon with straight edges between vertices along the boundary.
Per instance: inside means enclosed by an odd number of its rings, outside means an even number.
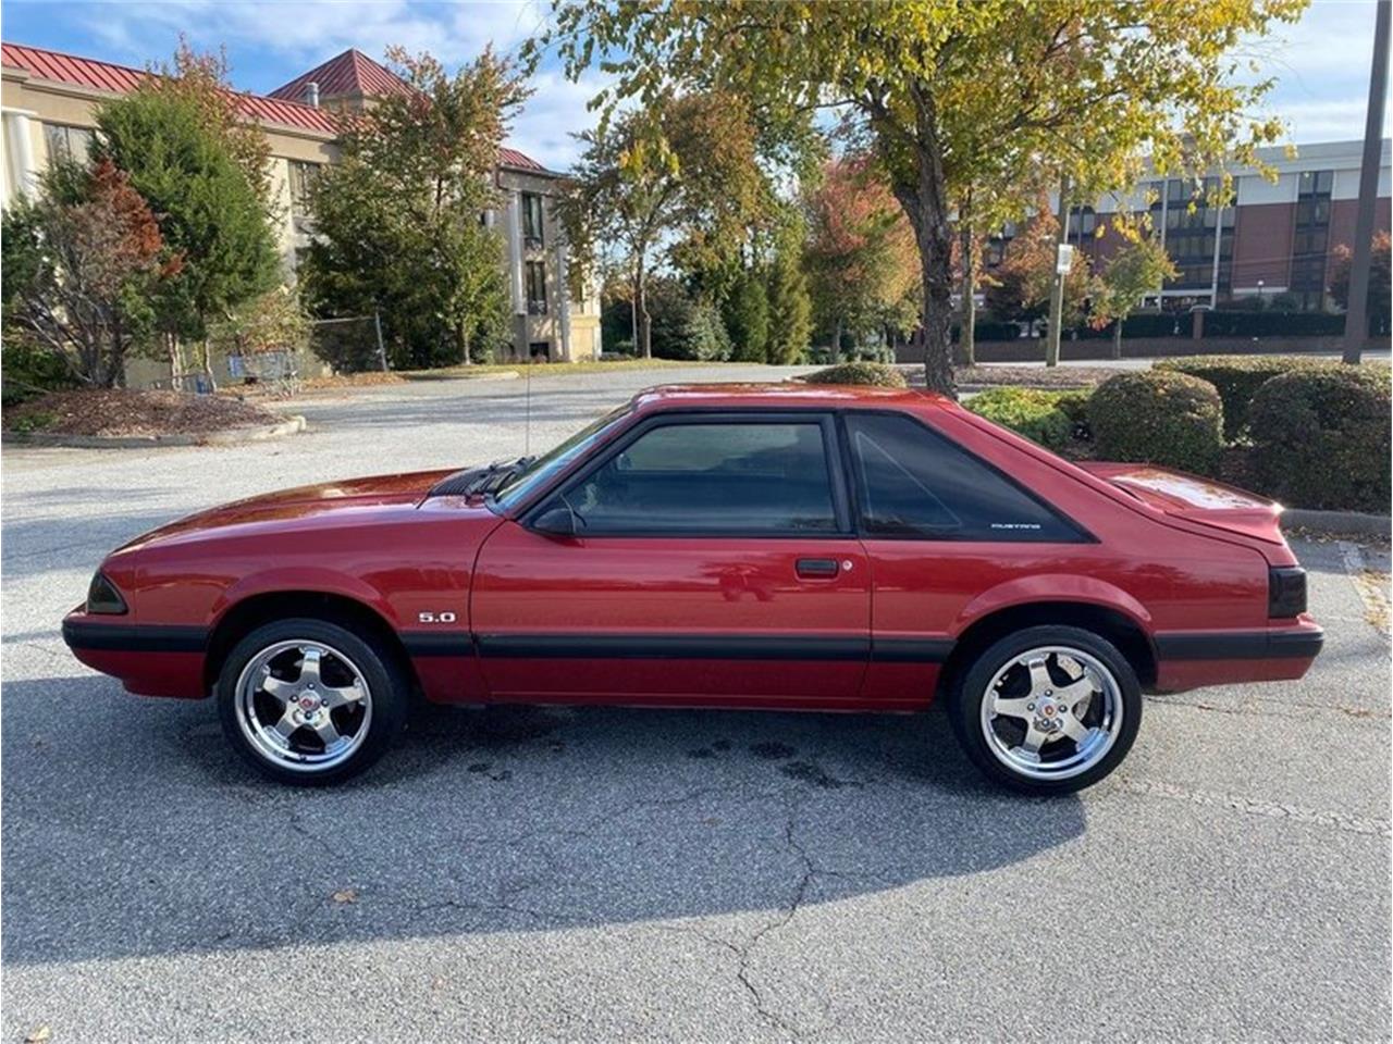
M1343 366L1273 377L1252 398L1252 470L1293 507L1389 512L1389 370Z

